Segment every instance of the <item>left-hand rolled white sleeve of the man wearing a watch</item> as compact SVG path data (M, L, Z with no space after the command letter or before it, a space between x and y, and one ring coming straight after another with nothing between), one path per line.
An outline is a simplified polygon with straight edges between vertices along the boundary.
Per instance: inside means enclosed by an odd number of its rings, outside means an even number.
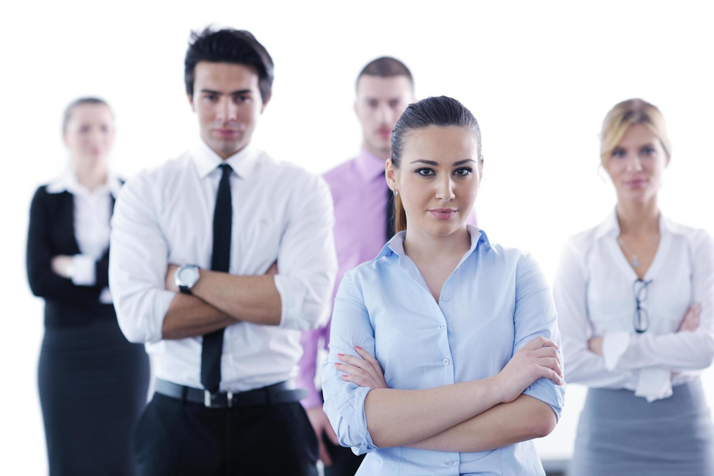
M151 190L146 176L129 181L111 219L109 286L119 327L133 343L161 340L166 311L175 296L166 290L168 245Z

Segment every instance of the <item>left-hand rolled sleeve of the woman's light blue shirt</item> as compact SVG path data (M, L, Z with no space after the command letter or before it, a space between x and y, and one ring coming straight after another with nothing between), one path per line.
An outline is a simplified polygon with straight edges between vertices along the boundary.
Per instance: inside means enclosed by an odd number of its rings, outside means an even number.
M370 388L358 387L342 378L335 367L338 353L355 355L359 345L371 355L374 352L374 329L364 306L361 292L346 273L335 299L330 334L330 354L322 368L323 410L331 422L340 445L351 447L356 455L373 452L374 445L367 427L364 401Z

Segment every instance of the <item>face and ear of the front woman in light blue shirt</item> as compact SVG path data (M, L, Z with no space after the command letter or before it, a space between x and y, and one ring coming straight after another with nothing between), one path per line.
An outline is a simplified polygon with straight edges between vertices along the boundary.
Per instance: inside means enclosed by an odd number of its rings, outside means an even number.
M481 183L478 140L471 128L428 126L403 139L398 169L388 161L410 230L446 236L466 223Z

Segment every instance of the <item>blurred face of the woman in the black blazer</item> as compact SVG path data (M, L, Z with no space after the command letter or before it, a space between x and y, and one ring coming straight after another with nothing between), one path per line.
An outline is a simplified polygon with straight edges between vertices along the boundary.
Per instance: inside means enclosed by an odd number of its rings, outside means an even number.
M114 143L114 116L104 104L72 108L64 143L76 166L104 165Z

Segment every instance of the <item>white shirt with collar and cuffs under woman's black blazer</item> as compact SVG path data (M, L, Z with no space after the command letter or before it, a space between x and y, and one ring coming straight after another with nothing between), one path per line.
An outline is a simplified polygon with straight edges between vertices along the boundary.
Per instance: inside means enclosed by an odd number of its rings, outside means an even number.
M112 197L119 195L119 178L109 175L105 184L90 191L77 181L74 171L67 170L46 188L47 193L69 192L74 200L74 238L80 254L72 256L72 283L93 286L96 262L109 246L109 220ZM99 302L111 304L109 288L101 290Z

